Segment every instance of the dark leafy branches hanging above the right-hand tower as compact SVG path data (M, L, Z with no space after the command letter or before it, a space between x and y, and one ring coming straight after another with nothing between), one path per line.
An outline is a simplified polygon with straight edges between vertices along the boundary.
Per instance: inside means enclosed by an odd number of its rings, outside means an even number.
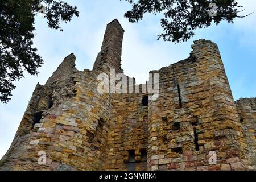
M164 32L158 35L158 39L166 41L180 42L187 41L197 28L209 27L212 23L220 23L226 20L233 23L234 18L241 11L243 6L238 5L236 0L125 0L131 3L133 8L125 13L129 22L137 23L146 13L163 13L161 26ZM217 6L216 16L212 16L214 11L210 3ZM216 9L215 9L216 10ZM209 12L212 13L211 16ZM250 15L250 14L249 14ZM248 15L246 15L248 16Z

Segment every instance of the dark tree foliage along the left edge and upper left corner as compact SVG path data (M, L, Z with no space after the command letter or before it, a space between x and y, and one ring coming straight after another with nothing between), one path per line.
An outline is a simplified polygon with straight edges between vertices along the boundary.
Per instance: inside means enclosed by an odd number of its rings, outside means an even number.
M46 11L42 3L47 5ZM40 11L45 13L49 28L60 31L60 22L67 23L72 16L79 16L77 7L60 0L0 1L0 101L4 103L10 100L13 82L24 77L23 72L37 75L43 64L32 47L35 16Z

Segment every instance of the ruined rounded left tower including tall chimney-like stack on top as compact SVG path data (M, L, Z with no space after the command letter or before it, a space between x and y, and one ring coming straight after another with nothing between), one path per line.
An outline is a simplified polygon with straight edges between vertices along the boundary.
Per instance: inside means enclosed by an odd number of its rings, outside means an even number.
M77 71L75 56L71 54L46 85L36 86L0 169L53 170L63 164L81 170L105 168L112 96L97 91L97 76L102 71L109 74L107 66L115 68L120 64L121 46L115 43L122 43L122 38L123 29L114 20L106 28L99 53L104 59L98 56L96 60L105 65L104 69ZM117 47L119 51L115 50ZM38 164L40 151L47 156L43 166Z

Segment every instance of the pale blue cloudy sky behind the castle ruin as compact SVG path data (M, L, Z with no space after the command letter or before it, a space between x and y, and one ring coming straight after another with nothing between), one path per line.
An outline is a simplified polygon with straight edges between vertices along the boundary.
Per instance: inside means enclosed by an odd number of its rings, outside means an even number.
M36 84L45 84L63 61L74 53L79 70L92 69L100 52L106 24L117 18L125 30L122 47L122 68L125 74L135 77L137 83L147 80L148 72L166 67L189 57L193 40L209 39L218 44L226 75L235 100L256 97L256 1L238 0L246 18L238 18L234 24L222 22L207 29L196 30L187 42L172 43L156 40L162 33L162 14L147 14L139 23L129 23L123 17L131 5L119 0L67 1L77 6L79 18L61 24L63 32L51 30L42 14L36 17L34 46L44 64L38 76L25 73L25 78L15 82L11 101L0 103L0 159L13 141L16 130L30 101Z

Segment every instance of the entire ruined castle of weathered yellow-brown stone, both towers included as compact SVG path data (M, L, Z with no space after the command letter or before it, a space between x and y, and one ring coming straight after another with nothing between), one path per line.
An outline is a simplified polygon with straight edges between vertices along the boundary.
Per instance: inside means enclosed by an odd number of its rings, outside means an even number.
M46 85L36 85L0 170L255 169L256 99L234 102L209 40L195 41L188 59L151 72L159 73L159 98L148 105L147 93L98 93L98 74L123 72L123 33L118 20L108 24L92 71L78 71L71 54Z

